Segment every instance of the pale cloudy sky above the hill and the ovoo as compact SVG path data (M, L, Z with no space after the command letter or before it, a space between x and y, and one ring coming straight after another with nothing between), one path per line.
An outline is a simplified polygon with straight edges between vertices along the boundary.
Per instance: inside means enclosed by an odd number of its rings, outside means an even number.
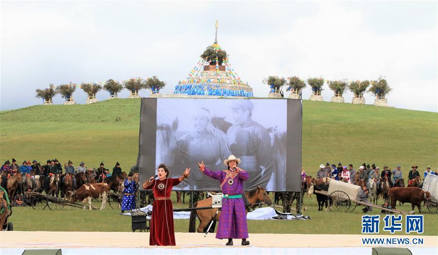
M218 19L219 44L255 96L267 96L268 75L384 75L393 89L390 106L438 111L437 1L1 1L0 7L1 110L41 104L36 89L70 81L157 75L167 83L162 93L172 93L213 43ZM85 103L82 90L73 95ZM327 85L323 96L332 96ZM351 92L344 97L351 102ZM373 103L371 94L365 98Z

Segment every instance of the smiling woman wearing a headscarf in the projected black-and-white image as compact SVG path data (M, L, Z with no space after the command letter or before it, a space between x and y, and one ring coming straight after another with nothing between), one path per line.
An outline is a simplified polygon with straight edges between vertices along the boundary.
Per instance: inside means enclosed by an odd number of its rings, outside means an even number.
M221 169L221 159L231 154L225 133L211 124L212 117L208 109L196 108L191 114L193 129L177 141L176 161L187 167L196 168L198 162L203 160L210 169L214 171ZM186 184L191 189L215 187L211 179L198 171L192 172Z

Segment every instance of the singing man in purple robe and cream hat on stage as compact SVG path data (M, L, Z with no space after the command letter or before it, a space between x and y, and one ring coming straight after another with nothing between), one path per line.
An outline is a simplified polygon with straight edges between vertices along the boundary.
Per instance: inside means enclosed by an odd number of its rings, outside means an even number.
M226 170L211 171L203 162L199 163L204 175L219 181L224 194L216 238L228 238L226 245L233 245L233 238L242 239L242 245L249 245L245 202L242 198L245 196L243 182L248 180L249 174L237 166L240 159L234 155L230 155L223 164L227 166Z

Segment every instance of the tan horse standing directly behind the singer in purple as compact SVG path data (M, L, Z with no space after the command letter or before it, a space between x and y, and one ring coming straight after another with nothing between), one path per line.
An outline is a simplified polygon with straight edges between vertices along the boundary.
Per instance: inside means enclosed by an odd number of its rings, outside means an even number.
M248 205L245 206L246 212L251 209L256 208L260 203L266 203L267 205L272 204L272 200L269 195L266 193L266 190L260 186L257 186L257 189L252 190L250 192L245 193L246 198L248 199ZM207 198L204 200L200 200L193 204L194 207L207 207L211 206L212 198ZM203 209L203 210L192 210L190 212L190 220L189 220L189 232L194 233L196 227L196 217L200 219L201 223L198 226L198 233L202 233L204 228L213 219L216 215L218 208L211 209ZM220 211L216 216L216 220L220 219Z

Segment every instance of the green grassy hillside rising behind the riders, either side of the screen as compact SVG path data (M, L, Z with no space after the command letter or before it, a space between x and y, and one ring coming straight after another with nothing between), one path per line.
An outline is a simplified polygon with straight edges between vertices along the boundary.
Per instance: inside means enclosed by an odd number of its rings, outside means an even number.
M33 106L0 112L0 160L18 163L57 158L122 169L135 164L140 99L113 99L91 105ZM438 114L371 105L303 102L303 166L364 162L420 172L438 167Z

